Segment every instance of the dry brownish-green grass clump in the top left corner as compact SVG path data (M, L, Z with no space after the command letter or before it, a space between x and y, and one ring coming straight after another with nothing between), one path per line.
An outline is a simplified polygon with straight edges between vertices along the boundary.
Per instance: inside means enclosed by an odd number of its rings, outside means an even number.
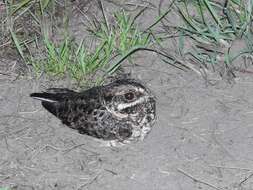
M1 23L2 39L12 41L22 61L28 65L32 54L38 49L38 40L41 38L45 11L52 10L54 0L6 0L2 4ZM29 20L29 26L26 25ZM26 23L27 21L27 23ZM38 68L37 68L38 69Z

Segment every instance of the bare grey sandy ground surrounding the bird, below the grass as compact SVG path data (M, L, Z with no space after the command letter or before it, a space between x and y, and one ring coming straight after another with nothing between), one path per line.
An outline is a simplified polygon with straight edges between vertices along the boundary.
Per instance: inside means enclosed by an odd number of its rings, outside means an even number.
M29 97L52 84L0 75L0 187L253 189L252 75L211 85L154 54L137 64L130 70L156 95L158 119L143 142L122 147L102 147Z

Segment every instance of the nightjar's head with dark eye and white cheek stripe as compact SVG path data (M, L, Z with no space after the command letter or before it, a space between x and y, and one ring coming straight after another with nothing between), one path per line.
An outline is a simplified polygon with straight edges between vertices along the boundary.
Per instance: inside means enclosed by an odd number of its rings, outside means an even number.
M150 121L155 119L155 97L136 80L121 79L110 83L105 86L103 97L106 109L117 118L139 122L143 117Z

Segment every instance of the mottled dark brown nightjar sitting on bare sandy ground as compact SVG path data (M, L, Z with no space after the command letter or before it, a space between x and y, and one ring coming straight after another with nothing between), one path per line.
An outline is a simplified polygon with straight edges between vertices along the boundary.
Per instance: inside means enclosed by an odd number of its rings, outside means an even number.
M83 92L51 88L32 93L63 124L104 140L143 140L156 119L156 101L143 84L120 79Z

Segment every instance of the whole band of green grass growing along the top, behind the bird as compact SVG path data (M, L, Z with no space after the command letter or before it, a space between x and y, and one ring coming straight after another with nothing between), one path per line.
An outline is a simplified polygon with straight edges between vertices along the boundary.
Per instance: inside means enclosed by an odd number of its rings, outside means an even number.
M161 55L165 63L202 74L205 69L215 71L217 66L232 68L239 58L252 56L253 53L252 1L230 0L223 5L212 0L174 0L144 31L138 28L136 20L146 7L136 15L124 10L116 11L108 22L102 1L98 1L102 17L86 26L91 39L85 40L85 36L81 42L77 42L68 31L69 18L65 7L62 8L64 15L61 17L61 31L64 29L60 34L62 39L55 41L49 35L52 30L49 26L57 25L57 19L53 16L57 12L57 1L12 2L5 2L6 19L2 27L9 31L9 40L23 62L27 63L27 68L37 77L69 77L78 84L92 79L100 83L114 74L123 61L132 63L137 51L153 51ZM176 26L166 26L165 18L173 19L170 14L172 10L182 22ZM22 26L21 19L24 18L31 19L32 25L28 28L32 32L24 32L27 29ZM177 32L175 38L178 46L175 49L179 55L151 48L153 45L162 47L166 42L161 33L153 32L154 26L159 24ZM58 31L58 28L54 30ZM165 35L168 35L167 31ZM245 43L245 48L231 52L233 43L238 39ZM186 48L185 44L189 42L191 48Z

